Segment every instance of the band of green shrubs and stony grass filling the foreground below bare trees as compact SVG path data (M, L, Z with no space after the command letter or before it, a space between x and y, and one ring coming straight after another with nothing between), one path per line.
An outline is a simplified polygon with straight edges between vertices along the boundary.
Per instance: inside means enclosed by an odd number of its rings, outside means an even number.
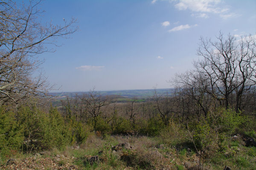
M0 111L1 169L256 169L255 118L232 109L167 124L160 115L135 123L99 116L95 127L53 107Z

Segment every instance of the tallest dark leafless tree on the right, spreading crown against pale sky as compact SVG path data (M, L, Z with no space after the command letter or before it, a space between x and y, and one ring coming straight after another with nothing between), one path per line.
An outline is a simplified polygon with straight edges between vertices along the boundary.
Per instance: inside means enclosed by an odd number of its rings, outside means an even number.
M225 39L223 34L216 42L201 38L198 55L203 57L195 62L198 75L208 80L207 92L218 101L224 101L228 108L236 95L236 111L241 107L241 97L256 84L256 45L251 35L240 40L232 35Z

